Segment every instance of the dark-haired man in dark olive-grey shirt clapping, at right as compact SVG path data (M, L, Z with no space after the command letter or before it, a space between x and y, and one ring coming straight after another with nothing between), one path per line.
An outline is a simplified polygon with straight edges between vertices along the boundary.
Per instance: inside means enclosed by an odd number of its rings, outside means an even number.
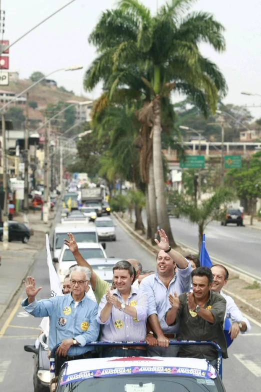
M180 323L180 340L210 340L221 348L222 357L227 358L223 321L226 301L222 295L210 291L213 275L209 268L198 267L191 273L193 292L177 296L169 295L171 308L166 312L167 325ZM206 358L217 366L217 353L210 345L180 346L179 356Z

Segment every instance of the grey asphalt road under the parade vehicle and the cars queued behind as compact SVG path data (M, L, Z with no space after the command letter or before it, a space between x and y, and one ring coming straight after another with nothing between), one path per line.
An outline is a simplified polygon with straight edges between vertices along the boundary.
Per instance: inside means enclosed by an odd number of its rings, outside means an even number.
M144 268L155 266L154 256L130 239L119 226L117 226L116 231L118 240L107 243L107 254L109 256L137 258L142 262ZM32 276L35 277L37 284L42 286L38 297L48 297L49 280L44 251L38 254ZM24 297L23 288L13 301L10 311L20 297ZM8 314L5 314L3 319L0 320L0 327L7 321L6 329L0 331L0 333L3 333L0 338L0 390L33 392L32 354L24 352L23 345L34 343L38 334L39 319L27 315L21 307L16 307L11 316L13 317L7 319ZM239 336L238 340L229 348L229 358L224 361L223 371L223 381L227 392L259 390L261 328L253 325L251 333L248 336Z

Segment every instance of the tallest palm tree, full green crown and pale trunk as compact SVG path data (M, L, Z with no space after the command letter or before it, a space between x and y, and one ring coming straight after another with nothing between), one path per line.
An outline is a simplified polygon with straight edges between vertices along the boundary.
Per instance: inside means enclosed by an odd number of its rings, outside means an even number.
M133 85L139 85L140 79L143 89L149 91L156 216L172 246L175 243L167 216L161 155L162 98L169 98L175 89L188 95L207 116L215 111L218 94L226 92L222 74L198 49L201 42L206 42L222 52L223 28L206 13L183 16L190 3L191 0L171 0L152 17L138 0L119 1L116 10L102 14L89 37L98 56L85 79L88 89L103 80L109 89L109 99L119 90L134 97ZM109 74L111 69L113 72Z

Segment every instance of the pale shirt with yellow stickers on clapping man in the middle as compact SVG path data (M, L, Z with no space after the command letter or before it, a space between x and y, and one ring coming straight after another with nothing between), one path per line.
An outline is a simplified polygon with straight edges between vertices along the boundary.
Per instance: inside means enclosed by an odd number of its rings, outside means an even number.
M118 289L113 290L113 295L119 302L124 303ZM109 318L102 322L100 320L101 310L106 305L105 295L99 304L97 321L102 324L101 341L141 341L146 337L146 319L147 319L147 296L140 290L131 287L126 304L135 306L137 316L132 317L119 309L112 306Z

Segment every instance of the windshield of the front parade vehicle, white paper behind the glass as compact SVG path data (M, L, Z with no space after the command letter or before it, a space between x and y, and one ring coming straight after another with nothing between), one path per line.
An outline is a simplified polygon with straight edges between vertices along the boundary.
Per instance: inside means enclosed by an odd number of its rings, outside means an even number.
M170 370L170 369L169 369ZM131 376L112 376L85 379L59 386L58 392L219 392L217 380L178 375L131 374Z

